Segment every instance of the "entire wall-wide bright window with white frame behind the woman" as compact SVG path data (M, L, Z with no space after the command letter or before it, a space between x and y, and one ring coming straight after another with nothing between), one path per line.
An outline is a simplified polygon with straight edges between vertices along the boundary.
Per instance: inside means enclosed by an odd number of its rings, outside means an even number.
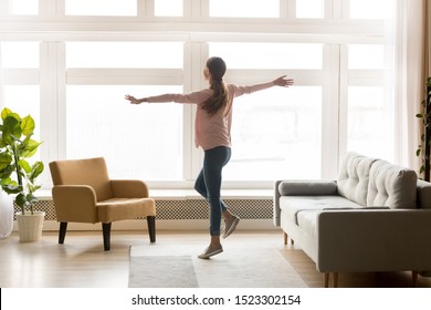
M235 100L224 185L334 178L346 151L395 158L395 19L386 20L395 3L3 1L0 103L36 118L45 163L104 156L113 177L187 187L203 158L196 106L130 105L124 96L208 87L204 62L219 55L229 83L295 80Z

